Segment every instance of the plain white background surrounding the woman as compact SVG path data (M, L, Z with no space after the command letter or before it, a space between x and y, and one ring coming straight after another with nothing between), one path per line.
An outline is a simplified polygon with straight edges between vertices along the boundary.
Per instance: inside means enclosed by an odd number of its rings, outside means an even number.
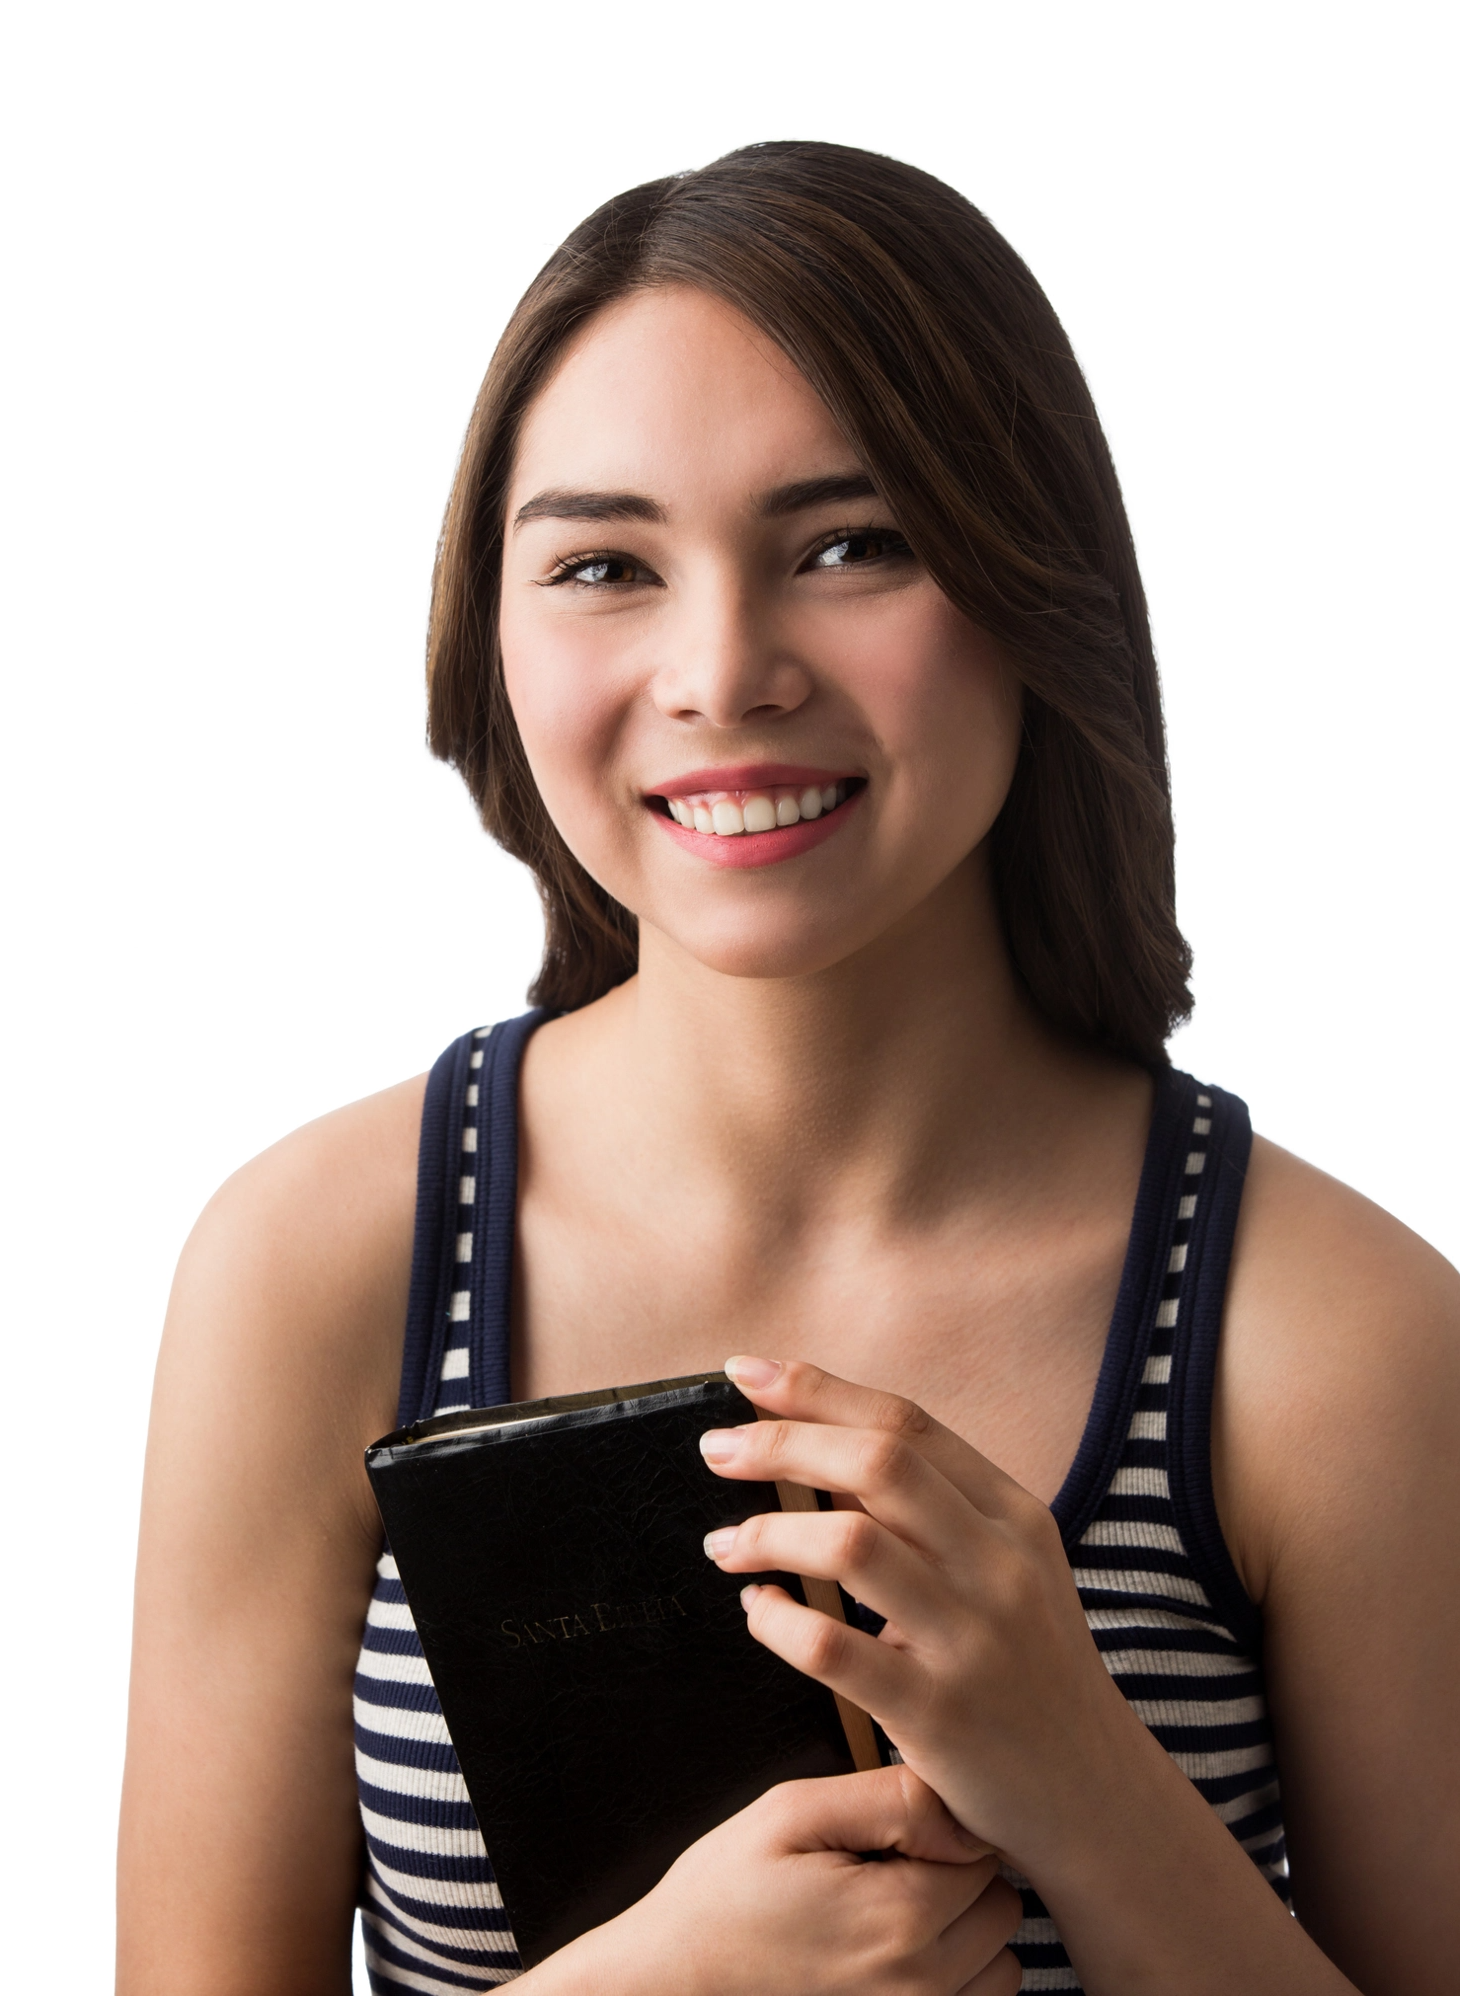
M1454 80L1442 10L1396 0L24 14L0 1974L80 1992L176 1251L234 1166L519 1010L535 962L529 882L425 754L421 633L493 339L615 190L833 138L1025 253L1150 589L1196 946L1176 1058L1460 1249Z

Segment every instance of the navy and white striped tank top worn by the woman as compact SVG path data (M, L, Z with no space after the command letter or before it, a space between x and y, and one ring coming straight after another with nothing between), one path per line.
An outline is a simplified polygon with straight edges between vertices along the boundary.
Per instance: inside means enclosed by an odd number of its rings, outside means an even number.
M399 1419L509 1399L517 1070L545 1018L465 1034L421 1118ZM1120 1291L1079 1453L1055 1499L1085 1619L1132 1709L1288 1900L1260 1619L1222 1541L1210 1403L1242 1176L1244 1106L1156 1076ZM491 1858L389 1551L356 1673L371 1988L455 1996L519 1974ZM1079 1990L1029 1880L1025 1990Z

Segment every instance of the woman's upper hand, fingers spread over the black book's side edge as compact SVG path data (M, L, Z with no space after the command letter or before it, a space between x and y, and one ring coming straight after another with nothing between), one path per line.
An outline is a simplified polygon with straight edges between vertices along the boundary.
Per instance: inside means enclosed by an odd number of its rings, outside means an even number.
M1130 1766L1132 1739L1148 1746L1051 1511L913 1401L815 1365L741 1357L727 1371L773 1419L707 1433L709 1467L855 1507L753 1517L705 1551L723 1573L837 1581L887 1617L871 1637L759 1587L751 1633L869 1711L967 1830L1041 1870Z

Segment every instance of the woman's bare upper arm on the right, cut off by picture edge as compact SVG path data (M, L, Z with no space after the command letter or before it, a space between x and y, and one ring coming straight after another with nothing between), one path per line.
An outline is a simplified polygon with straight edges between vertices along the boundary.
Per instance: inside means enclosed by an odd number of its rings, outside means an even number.
M1460 1962L1460 1277L1258 1144L1216 1497L1264 1615L1294 1902L1364 1996Z

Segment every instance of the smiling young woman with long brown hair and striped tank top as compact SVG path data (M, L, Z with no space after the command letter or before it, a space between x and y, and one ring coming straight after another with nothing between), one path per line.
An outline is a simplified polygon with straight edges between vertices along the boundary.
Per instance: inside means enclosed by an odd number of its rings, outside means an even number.
M377 1990L515 1970L362 1449L727 1353L775 1419L709 1463L837 1509L707 1557L865 1605L745 1597L905 1764L775 1790L525 1986L1452 1988L1460 1283L1166 1062L1140 581L1009 246L833 146L595 214L487 373L429 681L541 884L537 1010L188 1244L126 1996L336 1996L358 1900Z

